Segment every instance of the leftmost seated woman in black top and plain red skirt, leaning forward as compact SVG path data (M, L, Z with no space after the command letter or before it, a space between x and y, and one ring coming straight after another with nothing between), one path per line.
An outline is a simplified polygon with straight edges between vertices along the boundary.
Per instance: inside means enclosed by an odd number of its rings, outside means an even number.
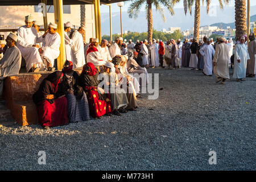
M33 101L38 110L38 119L44 129L68 124L68 101L61 91L59 83L63 73L60 71L49 74L33 94ZM59 92L61 93L61 92Z

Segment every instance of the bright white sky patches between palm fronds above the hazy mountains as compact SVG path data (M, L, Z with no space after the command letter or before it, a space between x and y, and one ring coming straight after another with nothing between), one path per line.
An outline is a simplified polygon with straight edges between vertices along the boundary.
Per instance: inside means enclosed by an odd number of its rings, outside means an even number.
M251 3L251 6L256 6L256 1L255 0L250 1L250 3ZM122 11L127 11L129 5L130 5L130 1L125 1L125 5L122 7ZM211 6L216 6L216 5L218 6L218 0L212 0ZM231 0L229 2L228 6L234 6L234 1ZM153 8L155 8L155 7L153 6ZM183 1L181 0L179 3L177 3L175 5L175 8L183 8ZM225 7L224 7L224 9L225 9ZM141 11L143 11L143 10L144 10L144 8L141 9ZM112 4L112 12L116 12L116 11L119 12L120 8L117 6L117 3L113 3ZM101 13L109 13L109 6L101 5Z

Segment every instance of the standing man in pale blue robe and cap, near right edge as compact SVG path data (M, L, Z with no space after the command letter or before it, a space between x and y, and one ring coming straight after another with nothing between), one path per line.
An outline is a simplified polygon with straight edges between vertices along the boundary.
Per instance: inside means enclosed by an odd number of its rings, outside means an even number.
M245 81L247 61L250 64L250 56L245 42L245 36L241 36L240 43L235 48L233 78L236 78L237 81Z

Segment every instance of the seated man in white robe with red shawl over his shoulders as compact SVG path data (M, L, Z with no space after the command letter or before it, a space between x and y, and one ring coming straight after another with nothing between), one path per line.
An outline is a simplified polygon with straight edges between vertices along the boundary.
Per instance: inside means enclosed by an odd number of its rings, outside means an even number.
M90 47L86 52L86 61L87 63L94 64L95 67L105 65L106 61L101 57L100 52L97 49L98 39L93 39Z

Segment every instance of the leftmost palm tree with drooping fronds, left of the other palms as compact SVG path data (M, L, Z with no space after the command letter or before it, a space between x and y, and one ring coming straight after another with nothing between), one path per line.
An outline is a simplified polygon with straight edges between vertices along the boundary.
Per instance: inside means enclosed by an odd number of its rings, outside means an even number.
M174 14L171 0L131 0L131 1L132 3L128 8L129 18L137 18L139 14L139 10L146 3L148 41L152 40L152 35L153 35L152 5L155 6L156 11L160 12L164 22L166 22L166 17L164 16L164 10L160 5L167 7L171 15Z

